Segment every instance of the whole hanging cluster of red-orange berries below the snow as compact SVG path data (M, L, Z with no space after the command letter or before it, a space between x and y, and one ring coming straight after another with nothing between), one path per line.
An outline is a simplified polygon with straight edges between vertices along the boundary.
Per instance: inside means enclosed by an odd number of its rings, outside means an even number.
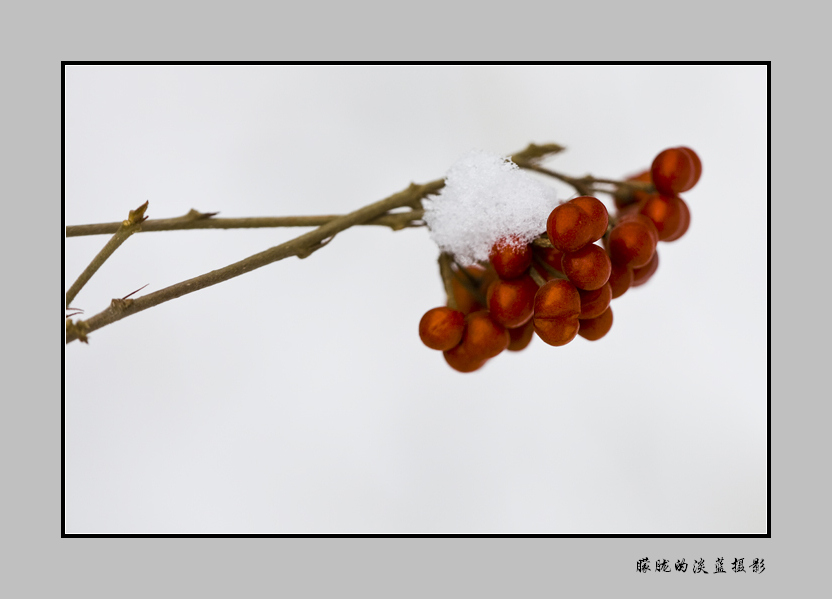
M690 211L678 194L701 172L693 150L670 148L617 186L613 217L597 198L579 196L552 210L545 237L501 239L487 264L463 268L443 255L448 305L422 317L422 342L455 370L473 372L506 349L524 349L535 333L554 346L578 335L601 339L612 327L611 301L653 276L659 241L687 231Z

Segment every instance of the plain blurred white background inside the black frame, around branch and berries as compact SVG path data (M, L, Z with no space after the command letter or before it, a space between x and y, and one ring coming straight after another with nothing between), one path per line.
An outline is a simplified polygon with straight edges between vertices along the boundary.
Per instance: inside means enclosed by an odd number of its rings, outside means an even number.
M65 93L66 224L344 213L529 142L574 175L703 162L597 342L459 374L417 334L427 231L365 227L70 344L67 533L767 532L764 66L69 66ZM73 305L303 231L138 234ZM105 242L66 241L65 287Z

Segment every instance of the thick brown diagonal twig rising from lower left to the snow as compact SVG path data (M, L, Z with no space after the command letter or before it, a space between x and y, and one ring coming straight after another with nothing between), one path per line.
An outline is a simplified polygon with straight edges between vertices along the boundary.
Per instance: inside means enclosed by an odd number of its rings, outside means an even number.
M364 206L354 212L350 212L349 214L330 220L314 231L305 233L295 239L292 239L291 241L277 245L264 252L249 256L244 260L240 260L239 262L235 262L234 264L230 264L224 268L220 268L198 277L194 277L193 279L182 281L181 283L160 289L159 291L143 295L135 300L114 300L110 303L110 306L106 310L99 312L87 320L77 322L67 320L66 343L70 343L75 340L85 341L87 333L91 333L92 331L100 329L101 327L111 324L117 320L121 320L122 318L126 318L127 316L136 314L137 312L147 310L148 308L152 308L153 306L157 306L163 302L210 287L211 285L216 285L217 283L233 279L234 277L251 272L252 270L266 266L272 262L282 260L283 258L301 255L309 252L310 250L314 251L314 249L317 249L316 246L319 247L321 242L324 242L325 240L333 237L336 233L348 229L353 225L361 224L367 222L368 220L377 218L385 212L395 208L406 206L413 208L414 206L419 206L423 197L436 193L444 186L445 181L442 179L431 181L430 183L425 183L423 185L411 183L407 189L384 200Z

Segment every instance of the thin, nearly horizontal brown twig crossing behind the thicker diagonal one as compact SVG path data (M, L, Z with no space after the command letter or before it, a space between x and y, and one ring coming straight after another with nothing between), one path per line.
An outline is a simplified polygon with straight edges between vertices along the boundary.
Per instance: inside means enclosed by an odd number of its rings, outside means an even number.
M218 212L199 212L191 210L188 214L177 218L157 218L145 221L141 232L150 231L181 231L190 229L264 229L272 227L320 227L342 214L320 216L258 216L245 218L213 218ZM394 231L407 227L424 226L421 223L425 211L421 209L382 214L359 225L378 225L390 227ZM66 228L67 237L81 237L84 235L105 235L115 233L121 223L100 223L93 225L70 225Z

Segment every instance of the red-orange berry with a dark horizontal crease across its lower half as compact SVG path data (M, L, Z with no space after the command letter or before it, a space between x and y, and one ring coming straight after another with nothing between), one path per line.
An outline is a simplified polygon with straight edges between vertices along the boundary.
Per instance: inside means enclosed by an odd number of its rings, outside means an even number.
M537 290L534 330L549 345L566 345L578 334L581 296L569 281L556 279Z

